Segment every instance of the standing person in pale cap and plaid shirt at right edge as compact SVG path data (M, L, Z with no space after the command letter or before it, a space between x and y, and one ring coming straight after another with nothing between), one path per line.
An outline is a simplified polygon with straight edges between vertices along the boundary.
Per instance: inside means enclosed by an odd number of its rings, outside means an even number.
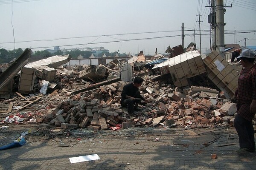
M244 69L240 72L236 99L237 115L234 126L239 136L240 148L238 153L254 152L253 117L256 113L256 65L254 65L256 53L252 50L244 50L237 59L240 59Z

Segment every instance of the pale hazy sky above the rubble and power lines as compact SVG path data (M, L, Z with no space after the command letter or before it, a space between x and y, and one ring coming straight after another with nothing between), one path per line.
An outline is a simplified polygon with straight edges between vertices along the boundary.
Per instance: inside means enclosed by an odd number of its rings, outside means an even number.
M233 6L224 14L225 31L232 33L225 34L225 44L242 46L247 38L246 45L256 45L256 1L224 3ZM184 46L194 42L193 29L199 46L200 14L201 34L207 34L201 35L204 52L210 47L209 7L205 6L209 0L0 0L0 47L41 51L54 46L102 46L110 52L137 54L143 50L153 55L156 48L164 53L168 45L181 44L182 23Z

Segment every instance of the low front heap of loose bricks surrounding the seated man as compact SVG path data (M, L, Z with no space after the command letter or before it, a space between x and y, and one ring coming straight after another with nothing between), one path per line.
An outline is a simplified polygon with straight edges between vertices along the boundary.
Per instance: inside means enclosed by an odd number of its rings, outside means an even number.
M146 84L147 82L145 82ZM221 102L223 99L205 99L199 97L198 91L218 91L210 88L192 86L185 95L179 89L169 89L163 93L147 92L146 85L140 88L148 103L142 103L141 111L129 115L120 105L122 88L125 82L100 86L89 93L80 93L61 102L55 110L41 119L63 129L70 127L87 127L94 130L131 126L166 127L207 126L208 124L227 125L233 122L236 104ZM168 90L167 90L168 89Z

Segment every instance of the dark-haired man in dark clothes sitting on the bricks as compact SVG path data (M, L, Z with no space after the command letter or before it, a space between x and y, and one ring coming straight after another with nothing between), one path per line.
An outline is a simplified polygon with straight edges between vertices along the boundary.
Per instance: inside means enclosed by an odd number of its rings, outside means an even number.
M128 113L132 114L135 110L140 110L138 104L141 100L147 101L140 95L139 87L142 85L143 79L135 77L133 83L126 84L122 90L121 105L128 108ZM135 106L134 106L135 105Z

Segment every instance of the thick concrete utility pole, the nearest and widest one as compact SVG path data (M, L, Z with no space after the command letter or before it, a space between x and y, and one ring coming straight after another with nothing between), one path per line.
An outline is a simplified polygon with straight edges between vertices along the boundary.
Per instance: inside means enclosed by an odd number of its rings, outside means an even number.
M223 0L216 0L216 51L225 57Z

